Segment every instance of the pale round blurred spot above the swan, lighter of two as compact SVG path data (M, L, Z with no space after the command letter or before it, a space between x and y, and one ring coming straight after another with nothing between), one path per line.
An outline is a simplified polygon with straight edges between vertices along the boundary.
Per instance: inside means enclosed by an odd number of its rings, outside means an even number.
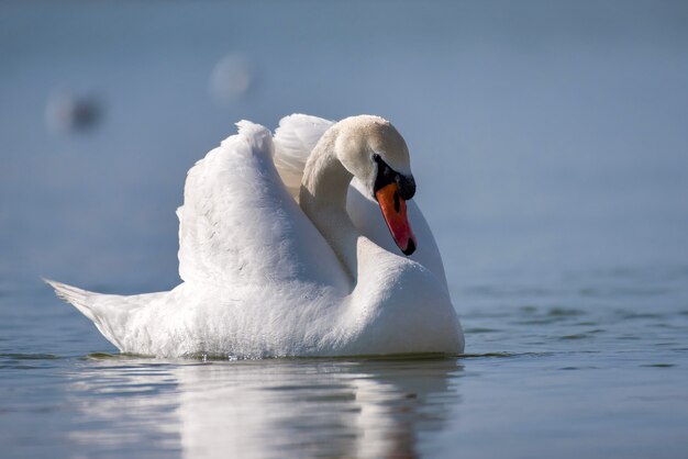
M218 60L210 75L210 93L220 102L231 102L248 91L254 75L254 66L245 57L228 54Z

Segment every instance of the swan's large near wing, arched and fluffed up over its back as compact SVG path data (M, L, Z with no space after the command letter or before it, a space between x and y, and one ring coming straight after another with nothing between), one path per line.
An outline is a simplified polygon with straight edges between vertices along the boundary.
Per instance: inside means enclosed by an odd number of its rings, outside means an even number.
M334 251L289 195L270 132L248 121L187 176L179 275L188 283L346 286Z

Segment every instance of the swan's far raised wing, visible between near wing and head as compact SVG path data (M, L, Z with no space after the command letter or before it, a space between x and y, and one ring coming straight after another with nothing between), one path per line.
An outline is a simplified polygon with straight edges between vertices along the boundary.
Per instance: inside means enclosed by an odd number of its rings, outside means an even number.
M320 137L334 124L318 116L295 113L279 121L275 131L275 167L285 187L297 201L309 155Z

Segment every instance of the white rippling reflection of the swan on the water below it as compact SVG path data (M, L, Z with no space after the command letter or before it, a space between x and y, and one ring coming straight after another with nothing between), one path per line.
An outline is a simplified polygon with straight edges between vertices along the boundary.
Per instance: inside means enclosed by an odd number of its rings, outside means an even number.
M454 359L124 356L86 367L70 385L85 417L69 435L79 449L187 458L415 457L456 418L462 371Z

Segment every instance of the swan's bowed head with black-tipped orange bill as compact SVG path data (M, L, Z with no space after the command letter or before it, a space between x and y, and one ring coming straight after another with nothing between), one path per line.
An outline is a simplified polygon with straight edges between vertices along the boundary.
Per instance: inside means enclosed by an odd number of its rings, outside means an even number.
M415 180L403 137L379 116L347 117L337 127L337 158L378 202L399 249L407 256L413 254L417 242L406 201L415 194Z

